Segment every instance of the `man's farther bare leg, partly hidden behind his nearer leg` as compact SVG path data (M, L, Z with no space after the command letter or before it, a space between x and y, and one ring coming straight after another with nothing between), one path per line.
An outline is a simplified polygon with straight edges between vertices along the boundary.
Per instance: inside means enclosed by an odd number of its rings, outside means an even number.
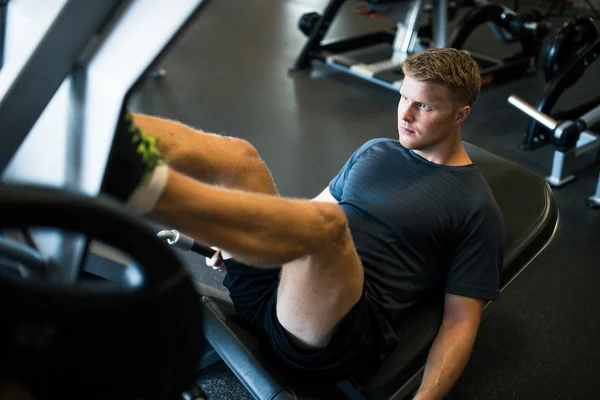
M132 114L132 118L143 132L158 139L158 148L173 169L214 185L277 193L269 169L247 141L149 115Z

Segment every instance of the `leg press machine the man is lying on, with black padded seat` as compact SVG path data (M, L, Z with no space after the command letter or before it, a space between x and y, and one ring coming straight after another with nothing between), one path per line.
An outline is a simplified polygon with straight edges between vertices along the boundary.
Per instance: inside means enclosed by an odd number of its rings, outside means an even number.
M368 381L348 380L310 387L311 384L302 380L301 376L273 359L268 346L236 318L230 304L219 303L218 300L205 296L201 300L202 307L195 309L198 298L193 293L190 294L185 271L173 260L166 245L161 246L161 243L156 242L159 238L154 232L149 232L148 227L141 225L141 221L132 220L120 209L111 211L114 204L91 199L99 194L119 111L132 86L147 74L157 56L164 51L200 3L199 0L182 0L177 7L150 0L85 4L78 0L49 0L35 1L35 7L33 3L26 1L11 3L15 8L11 8L10 15L27 14L23 8L16 7L24 7L24 4L31 6L29 12L39 8L40 15L32 18L36 29L31 29L33 25L8 24L12 27L10 29L21 26L31 32L29 36L20 36L14 31L7 33L8 42L11 42L11 38L19 37L28 41L30 46L21 46L20 53L14 53L15 47L9 46L6 64L0 74L0 126L8 132L0 147L0 171L3 174L3 185L0 187L0 227L10 230L20 229L22 226L58 227L75 234L69 237L51 231L49 238L45 232L28 232L38 245L36 251L39 256L32 257L37 261L52 259L53 264L60 268L49 266L37 270L49 270L47 273L51 276L47 284L45 281L25 279L27 272L23 272L24 269L19 266L11 270L12 278L0 276L0 294L6 296L2 297L2 311L12 321L8 330L3 325L3 332L11 333L12 338L15 329L22 331L19 329L22 326L20 314L15 311L19 308L24 309L27 316L31 316L27 319L29 322L47 321L44 318L56 315L63 317L60 321L64 326L76 329L79 321L67 318L75 308L89 318L90 324L101 324L100 327L86 325L98 328L94 332L99 337L85 336L88 331L71 331L72 335L66 341L71 345L88 338L97 338L98 341L104 338L108 345L115 343L117 339L131 338L122 326L150 329L147 324L154 324L152 327L155 328L158 325L164 329L155 329L154 332L157 335L164 332L165 336L153 342L156 345L153 351L160 351L161 357L150 361L152 365L160 364L163 368L160 372L152 370L149 375L143 373L146 377L144 382L148 386L139 387L139 390L149 392L155 388L159 390L157 393L164 393L164 397L169 397L177 396L178 391L184 388L184 383L192 378L190 368L194 366L193 359L202 342L194 321L201 320L206 340L257 398L281 399L294 395L299 398L306 392L313 392L327 399L350 393L372 399L408 396L418 386L424 360L439 328L441 299L429 298L419 306L419 311L415 313L417 317L406 330L401 343L384 361L380 371ZM48 9L52 6L56 8L49 12ZM508 237L502 269L504 289L552 240L559 220L558 209L543 179L474 146L468 146L468 151L484 171L506 221ZM102 243L132 256L133 263L119 252L112 252L113 259L118 258L117 255L125 258L123 267L114 278L110 282L100 280L98 284L81 282L83 287L79 290L81 265L86 264L91 253L87 250L97 249ZM25 262L21 261L21 264ZM16 277L15 271L19 274ZM35 267L28 272L36 273ZM107 270L100 268L98 273L107 273ZM88 280L91 279L89 277ZM53 284L56 284L56 290L53 289ZM171 288L170 284L175 284L173 290L168 290ZM78 301L79 297L74 293L83 293L80 297L90 301ZM130 307L125 307L128 305ZM103 311L103 318L94 319L91 318L93 314L86 314L85 310L91 308L97 312ZM144 323L140 322L139 326L136 324L139 321L137 319L115 323L115 317L125 319L129 316L129 313L124 312L112 313L115 308L122 308L121 311L139 311L142 315L137 315L137 318L148 319L144 319ZM177 312L173 312L174 309ZM57 311L59 314L47 314L49 311ZM61 312L64 314L60 314ZM190 331L187 330L188 327ZM83 329L84 326L80 328ZM172 340L172 330L183 336L181 341ZM29 337L34 339L30 340L31 343L43 344L48 337L46 332L50 332L51 337L53 330L32 329L26 332L41 332L41 335ZM105 336L104 332L109 332L112 336ZM115 332L119 334L118 338L115 338ZM96 341L87 344L93 346ZM163 348L163 344L170 346ZM187 346L192 349L189 354ZM8 346L6 351L11 350L12 347ZM176 352L172 353L170 350ZM77 354L73 352L69 354L76 357ZM148 357L156 354L147 351L147 348L140 352L144 354L143 357L128 360L136 362L131 368L136 368L142 362L150 364ZM101 357L112 353L96 354ZM126 352L119 354L122 357L128 356ZM80 356L83 355L82 353ZM177 356L185 361L180 363ZM60 362L75 358L52 359ZM16 362L19 357L15 355L11 360ZM29 371L37 373L36 376L40 376L40 371L35 370L36 366L46 365L51 368L53 365L35 361L33 359L28 366L34 368ZM116 381L104 379L111 376L110 369L100 369L95 374L94 370L87 370L88 364L83 362L77 365L78 370L69 369L64 374L60 373L51 383L85 384L84 388L89 390L78 392L79 397L81 393L85 393L86 397L93 397L95 393L99 393L100 388L109 392L119 390L118 387L110 387L111 382L116 385ZM2 365L3 373L16 368L14 362ZM119 367L117 365L114 368L115 374L122 371ZM57 374L58 371L64 370L57 368ZM141 371L145 372L146 369ZM86 373L89 373L88 379L78 381L72 378ZM40 379L44 379L44 376ZM128 376L125 373L119 374L121 380L116 386L127 385ZM87 386L90 382L93 384L91 387ZM167 385L167 388L161 385ZM123 387L120 390L124 390ZM134 395L147 393L137 393L137 390L132 392ZM126 395L128 392L122 394ZM104 397L124 396L117 393L116 396Z

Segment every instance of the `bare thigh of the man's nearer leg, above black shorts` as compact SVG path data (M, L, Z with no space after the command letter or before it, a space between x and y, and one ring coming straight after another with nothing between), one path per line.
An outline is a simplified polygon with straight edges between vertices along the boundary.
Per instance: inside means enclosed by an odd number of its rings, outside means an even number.
M362 296L364 272L349 231L336 243L282 267L277 318L300 347L325 347Z

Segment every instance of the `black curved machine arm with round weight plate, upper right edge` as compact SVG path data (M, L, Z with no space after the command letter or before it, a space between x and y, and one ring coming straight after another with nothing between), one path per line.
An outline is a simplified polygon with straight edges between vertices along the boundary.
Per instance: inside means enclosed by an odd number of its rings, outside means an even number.
M552 111L563 92L579 81L600 54L600 36L596 28L592 28L593 24L589 18L573 19L559 28L554 39L548 43L544 71L550 80L536 104L539 112L553 115L556 119L575 119L600 105L599 97L571 110L554 113ZM532 119L520 148L535 150L552 141L548 129Z

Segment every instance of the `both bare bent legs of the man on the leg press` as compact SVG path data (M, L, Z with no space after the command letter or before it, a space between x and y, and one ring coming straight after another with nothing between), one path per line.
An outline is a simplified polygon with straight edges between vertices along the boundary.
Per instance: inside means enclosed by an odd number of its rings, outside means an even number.
M176 170L229 188L276 195L271 174L247 142L147 116ZM197 239L245 263L283 264L277 316L298 344L324 346L362 294L363 269L337 205L227 191L173 172L156 211Z

